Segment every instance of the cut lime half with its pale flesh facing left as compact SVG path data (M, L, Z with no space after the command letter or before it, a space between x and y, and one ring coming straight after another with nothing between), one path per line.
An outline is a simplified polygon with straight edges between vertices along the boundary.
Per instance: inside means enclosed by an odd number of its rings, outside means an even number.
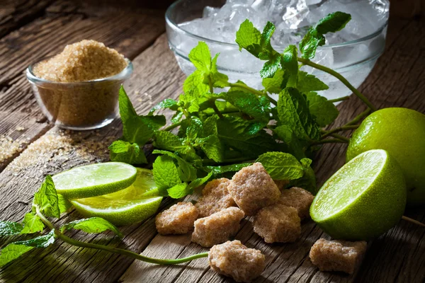
M385 233L402 217L406 185L397 161L387 151L366 151L324 183L310 216L329 236L369 240Z

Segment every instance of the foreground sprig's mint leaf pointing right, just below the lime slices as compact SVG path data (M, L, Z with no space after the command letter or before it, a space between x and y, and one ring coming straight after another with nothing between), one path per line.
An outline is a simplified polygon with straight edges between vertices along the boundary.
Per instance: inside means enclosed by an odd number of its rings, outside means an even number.
M70 229L82 230L86 233L102 233L103 231L110 230L113 231L113 233L115 233L118 237L123 238L123 233L121 233L117 227L100 217L91 217L87 219L71 221L62 226L60 231L63 233L65 230Z

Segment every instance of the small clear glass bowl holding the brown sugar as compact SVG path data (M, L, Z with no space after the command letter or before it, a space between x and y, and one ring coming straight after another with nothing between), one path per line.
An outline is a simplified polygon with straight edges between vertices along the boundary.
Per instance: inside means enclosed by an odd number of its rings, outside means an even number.
M39 62L26 69L26 76L38 105L50 122L64 129L98 129L117 117L120 86L133 71L131 61L125 60L127 67L120 73L93 81L64 83L38 78L33 67Z

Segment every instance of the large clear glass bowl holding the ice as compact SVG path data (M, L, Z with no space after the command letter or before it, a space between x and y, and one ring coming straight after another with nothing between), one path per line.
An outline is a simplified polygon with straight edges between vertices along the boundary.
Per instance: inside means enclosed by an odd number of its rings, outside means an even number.
M194 71L194 67L188 59L188 53L198 45L199 41L204 41L210 47L212 54L220 52L217 69L227 74L229 81L241 80L251 87L262 89L259 70L263 66L263 61L256 59L246 50L239 52L236 43L211 40L183 30L179 26L180 23L202 17L205 6L221 7L223 4L225 4L223 0L179 0L174 2L166 11L166 33L169 47L174 52L181 70L188 75ZM338 71L358 88L370 74L384 51L386 33L387 21L367 36L319 47L316 57L312 61ZM282 51L276 47L275 49ZM351 91L334 76L311 67L302 67L302 70L314 74L327 83L329 90L320 91L320 95L328 99L351 95Z

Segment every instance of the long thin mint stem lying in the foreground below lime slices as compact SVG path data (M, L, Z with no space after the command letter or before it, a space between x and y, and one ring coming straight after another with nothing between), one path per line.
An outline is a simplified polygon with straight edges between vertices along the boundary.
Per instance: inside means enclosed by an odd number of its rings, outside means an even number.
M50 229L55 229L52 222L50 222L47 218L45 218L45 216L40 212L38 205L35 206L35 212L38 215L38 217L40 217L41 221L47 227L49 227ZM191 261L191 260L196 260L197 258L208 257L208 252L205 252L205 253L198 253L196 255L191 255L187 258L178 258L176 260L169 260L169 259L162 260L162 259L159 259L159 258L149 258L145 255L133 253L130 250L124 250L123 248L112 248L112 247L108 247L108 246L98 245L96 243L85 243L85 242L77 241L77 240L74 240L72 238L65 236L64 234L60 233L59 230L56 230L56 229L55 229L55 235L57 236L57 238L60 238L65 243L69 243L69 245L72 245L72 246L77 246L77 247L81 247L81 248L94 248L96 250L105 250L109 253L117 253L119 255L125 255L125 256L128 256L130 258L135 258L136 260L142 260L144 262L154 263L156 265L176 265L176 264L179 264L179 263L182 263L182 262L188 262L188 261Z

